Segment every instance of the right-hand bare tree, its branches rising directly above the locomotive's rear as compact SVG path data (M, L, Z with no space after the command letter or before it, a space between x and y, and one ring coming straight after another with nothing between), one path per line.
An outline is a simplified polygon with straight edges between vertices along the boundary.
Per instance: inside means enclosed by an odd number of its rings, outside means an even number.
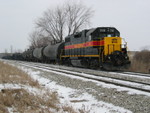
M81 3L69 2L65 6L66 10L66 27L68 34L74 34L90 24L90 19L93 15L91 8L88 8Z

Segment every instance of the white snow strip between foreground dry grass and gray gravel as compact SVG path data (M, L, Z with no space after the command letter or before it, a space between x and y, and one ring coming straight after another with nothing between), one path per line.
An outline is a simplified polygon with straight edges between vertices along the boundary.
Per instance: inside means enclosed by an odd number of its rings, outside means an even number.
M57 91L60 97L61 103L65 105L71 105L75 109L84 109L86 111L90 111L90 113L132 113L129 110L124 108L114 106L112 104L97 101L92 95L88 93L77 94L77 90L60 86L56 82L46 79L40 76L40 71L32 71L31 69L23 68L23 70L27 71L32 78L38 80L38 82L45 86L45 88L52 89L53 91ZM45 70L44 70L45 71ZM74 77L73 77L74 78ZM76 77L75 77L76 78ZM81 77L78 77L81 78Z

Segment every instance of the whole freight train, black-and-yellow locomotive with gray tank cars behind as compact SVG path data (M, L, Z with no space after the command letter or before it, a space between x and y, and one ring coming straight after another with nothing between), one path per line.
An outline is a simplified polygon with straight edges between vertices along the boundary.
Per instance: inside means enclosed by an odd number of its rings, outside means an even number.
M29 49L21 57L28 61L105 70L127 69L130 66L127 44L123 43L120 32L114 27L82 30L67 36L64 42Z

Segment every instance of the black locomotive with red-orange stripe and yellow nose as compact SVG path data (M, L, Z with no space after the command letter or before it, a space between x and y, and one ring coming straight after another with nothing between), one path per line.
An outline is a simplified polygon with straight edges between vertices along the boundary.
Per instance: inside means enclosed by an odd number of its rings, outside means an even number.
M65 38L61 55L64 64L106 70L125 69L130 65L127 44L114 27L83 30Z

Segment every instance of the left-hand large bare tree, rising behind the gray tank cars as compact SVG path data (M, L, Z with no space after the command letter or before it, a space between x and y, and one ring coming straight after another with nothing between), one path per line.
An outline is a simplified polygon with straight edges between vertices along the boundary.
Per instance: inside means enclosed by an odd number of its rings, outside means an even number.
M37 27L47 33L48 37L61 42L63 39L63 30L65 24L65 13L61 8L56 10L47 10L42 18L37 22Z

